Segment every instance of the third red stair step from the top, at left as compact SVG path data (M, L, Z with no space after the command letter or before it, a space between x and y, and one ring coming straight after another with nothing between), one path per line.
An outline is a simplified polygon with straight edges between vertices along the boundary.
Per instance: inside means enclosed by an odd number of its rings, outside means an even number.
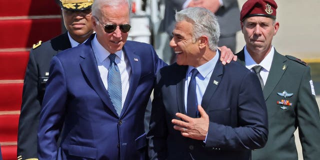
M24 79L29 51L0 52L0 79Z

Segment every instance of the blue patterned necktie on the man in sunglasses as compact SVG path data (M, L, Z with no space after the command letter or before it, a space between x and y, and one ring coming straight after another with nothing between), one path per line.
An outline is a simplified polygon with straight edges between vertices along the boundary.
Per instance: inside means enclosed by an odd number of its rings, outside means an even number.
M122 110L122 85L120 70L114 61L115 56L116 55L114 53L109 55L110 66L108 70L108 93L116 113L120 116Z

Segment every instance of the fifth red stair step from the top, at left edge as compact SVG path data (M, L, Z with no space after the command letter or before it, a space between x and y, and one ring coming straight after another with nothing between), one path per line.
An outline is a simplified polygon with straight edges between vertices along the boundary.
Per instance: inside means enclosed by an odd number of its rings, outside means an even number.
M19 111L16 111L19 112ZM16 141L20 114L0 115L0 142ZM2 144L1 144L2 145Z

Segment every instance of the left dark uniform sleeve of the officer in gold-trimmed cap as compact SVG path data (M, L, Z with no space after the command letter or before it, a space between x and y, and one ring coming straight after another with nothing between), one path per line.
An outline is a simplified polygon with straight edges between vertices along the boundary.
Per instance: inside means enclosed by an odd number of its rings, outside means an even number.
M17 156L22 159L37 158L36 132L39 123L40 100L38 98L38 68L30 51L22 91L22 104L18 124Z

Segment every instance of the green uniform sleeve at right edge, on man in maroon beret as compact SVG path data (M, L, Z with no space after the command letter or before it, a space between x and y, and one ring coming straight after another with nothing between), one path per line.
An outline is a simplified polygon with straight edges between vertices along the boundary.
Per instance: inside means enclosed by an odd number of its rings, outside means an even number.
M297 101L297 123L302 145L303 159L317 159L320 156L320 116L310 75L310 67L305 67ZM313 90L314 91L314 90Z

